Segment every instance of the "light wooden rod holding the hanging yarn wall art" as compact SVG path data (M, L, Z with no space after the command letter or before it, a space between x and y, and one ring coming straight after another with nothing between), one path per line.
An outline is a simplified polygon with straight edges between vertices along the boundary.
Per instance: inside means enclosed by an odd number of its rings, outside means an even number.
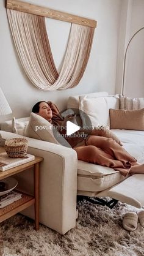
M35 6L28 2L7 0L7 9L18 10L20 12L27 12L47 18L54 18L55 20L62 20L96 28L96 20L90 20L88 18L79 17L66 12L59 12L58 10L49 9L48 7Z

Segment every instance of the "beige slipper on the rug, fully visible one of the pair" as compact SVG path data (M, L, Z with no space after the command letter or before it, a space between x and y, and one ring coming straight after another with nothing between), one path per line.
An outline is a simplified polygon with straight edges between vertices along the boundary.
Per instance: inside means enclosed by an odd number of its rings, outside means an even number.
M123 216L123 228L134 231L137 228L138 216L134 212L125 213Z

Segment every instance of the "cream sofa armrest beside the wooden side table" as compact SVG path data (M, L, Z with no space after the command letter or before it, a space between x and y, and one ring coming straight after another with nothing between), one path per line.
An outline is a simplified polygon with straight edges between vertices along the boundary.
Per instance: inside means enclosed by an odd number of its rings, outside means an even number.
M22 137L3 131L1 135L5 139ZM34 138L27 140L27 152L44 158L40 167L40 222L64 234L76 225L76 151ZM20 185L27 192L34 187L32 173L26 171L20 175ZM24 215L34 219L34 209L26 209Z

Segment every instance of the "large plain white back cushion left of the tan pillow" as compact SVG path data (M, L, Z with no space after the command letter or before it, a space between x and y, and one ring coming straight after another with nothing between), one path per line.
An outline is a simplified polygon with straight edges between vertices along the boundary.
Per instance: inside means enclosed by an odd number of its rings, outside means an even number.
M80 116L82 118L82 126L109 126L109 108L119 109L118 96L107 96L98 98L80 97ZM82 110L82 111L81 111Z

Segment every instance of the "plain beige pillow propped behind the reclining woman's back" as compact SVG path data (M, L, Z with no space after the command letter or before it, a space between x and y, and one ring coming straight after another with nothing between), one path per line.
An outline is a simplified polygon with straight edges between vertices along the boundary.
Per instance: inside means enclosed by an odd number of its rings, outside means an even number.
M35 113L31 113L30 121L24 135L30 138L37 138L37 140L59 144L53 135L52 129L52 124L45 118L42 118Z

